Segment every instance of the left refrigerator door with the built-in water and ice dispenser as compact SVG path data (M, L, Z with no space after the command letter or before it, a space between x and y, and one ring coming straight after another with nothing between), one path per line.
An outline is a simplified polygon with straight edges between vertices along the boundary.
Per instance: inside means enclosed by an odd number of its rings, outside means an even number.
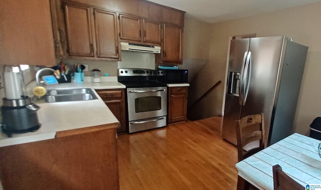
M231 40L227 91L225 98L222 138L236 145L236 120L240 119L240 74L249 47L249 39Z

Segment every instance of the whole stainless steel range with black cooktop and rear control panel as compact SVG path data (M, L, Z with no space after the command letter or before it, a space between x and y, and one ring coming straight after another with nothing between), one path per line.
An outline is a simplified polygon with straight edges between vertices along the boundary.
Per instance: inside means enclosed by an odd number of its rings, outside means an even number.
M118 81L126 85L129 133L167 125L167 85L155 70L118 69Z

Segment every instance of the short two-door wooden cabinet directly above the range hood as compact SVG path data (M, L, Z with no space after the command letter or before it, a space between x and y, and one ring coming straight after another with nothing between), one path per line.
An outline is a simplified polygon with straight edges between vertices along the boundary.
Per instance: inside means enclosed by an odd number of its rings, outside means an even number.
M142 24L141 24L142 23ZM162 23L135 16L119 15L120 39L161 44Z

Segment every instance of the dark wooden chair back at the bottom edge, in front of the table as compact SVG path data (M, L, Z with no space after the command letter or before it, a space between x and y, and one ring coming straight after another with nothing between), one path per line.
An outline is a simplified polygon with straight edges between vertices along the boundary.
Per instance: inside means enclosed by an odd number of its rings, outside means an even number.
M290 176L288 176L284 171L282 171L281 166L273 165L273 184L275 190L304 190L305 187L300 185Z

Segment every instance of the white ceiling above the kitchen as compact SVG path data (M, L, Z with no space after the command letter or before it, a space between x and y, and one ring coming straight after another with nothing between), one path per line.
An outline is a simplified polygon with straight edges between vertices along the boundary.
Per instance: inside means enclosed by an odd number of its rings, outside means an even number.
M186 17L217 23L321 0L148 0L186 12Z

